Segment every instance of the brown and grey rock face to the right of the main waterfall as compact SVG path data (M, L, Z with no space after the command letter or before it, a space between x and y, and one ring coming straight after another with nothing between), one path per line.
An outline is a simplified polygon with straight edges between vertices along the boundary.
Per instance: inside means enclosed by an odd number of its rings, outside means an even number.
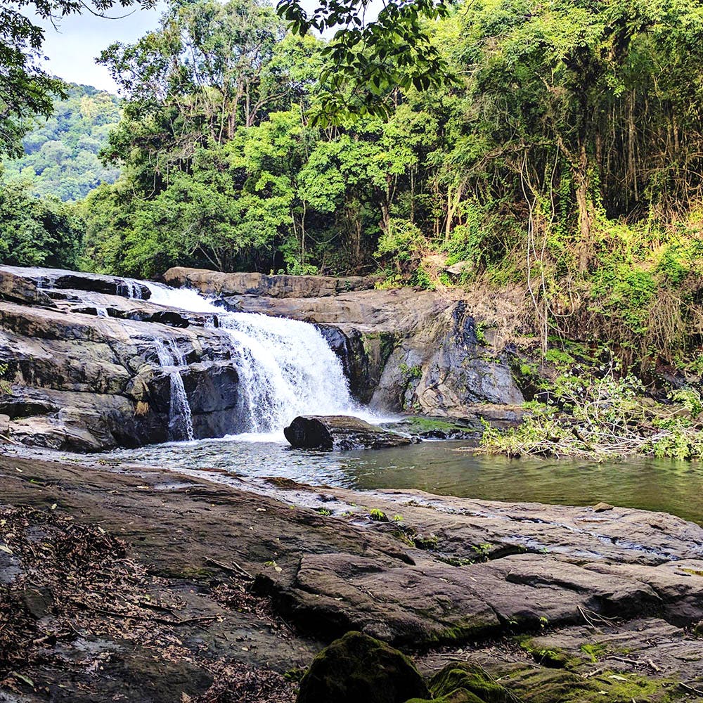
M340 283L333 287L324 276L183 268L169 269L164 278L217 292L233 310L315 323L342 357L352 391L376 408L463 418L480 404L522 404L508 354L484 339L458 292L369 290L369 279L335 279ZM252 295L282 290L281 278L292 279L285 295ZM333 295L333 288L343 292Z

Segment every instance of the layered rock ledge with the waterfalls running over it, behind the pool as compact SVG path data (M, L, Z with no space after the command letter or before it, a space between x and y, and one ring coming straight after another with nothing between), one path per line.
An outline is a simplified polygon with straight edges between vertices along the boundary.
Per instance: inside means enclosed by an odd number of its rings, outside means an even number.
M282 432L296 415L363 417L362 404L519 417L505 352L479 343L459 299L372 290L369 278L171 269L165 280L191 288L0 267L0 363L11 386L0 434L99 451Z

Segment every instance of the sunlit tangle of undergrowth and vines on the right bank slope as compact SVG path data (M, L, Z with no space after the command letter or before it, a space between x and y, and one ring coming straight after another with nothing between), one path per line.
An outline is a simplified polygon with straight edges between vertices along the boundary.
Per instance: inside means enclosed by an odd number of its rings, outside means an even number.
M659 363L700 375L701 212L636 223L599 214L586 269L572 228L533 219L528 234L505 213L469 208L465 224L437 239L393 221L376 252L390 264L380 286L460 288L470 313L496 328L499 345L548 354L550 337L605 343L640 377Z

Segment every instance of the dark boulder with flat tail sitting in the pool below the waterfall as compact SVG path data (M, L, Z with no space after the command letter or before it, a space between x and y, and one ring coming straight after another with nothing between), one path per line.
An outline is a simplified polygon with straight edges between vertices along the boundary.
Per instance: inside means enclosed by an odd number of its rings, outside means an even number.
M299 415L283 434L297 449L384 449L414 441L350 415Z

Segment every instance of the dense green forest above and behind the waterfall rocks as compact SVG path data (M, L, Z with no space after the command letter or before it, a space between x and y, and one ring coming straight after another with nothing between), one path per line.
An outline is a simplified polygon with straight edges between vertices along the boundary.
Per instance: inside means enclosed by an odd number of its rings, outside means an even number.
M643 372L700 371L700 8L481 0L425 30L446 67L430 89L402 78L402 54L330 55L334 40L266 4L172 1L157 30L98 59L119 108L84 93L101 102L77 138L59 101L6 165L1 259L461 285L502 299L494 321L543 352L605 341ZM340 56L400 78L370 71L360 91ZM82 102L74 114L92 119ZM92 163L98 143L89 177L58 164L66 150ZM11 177L27 169L31 187Z

